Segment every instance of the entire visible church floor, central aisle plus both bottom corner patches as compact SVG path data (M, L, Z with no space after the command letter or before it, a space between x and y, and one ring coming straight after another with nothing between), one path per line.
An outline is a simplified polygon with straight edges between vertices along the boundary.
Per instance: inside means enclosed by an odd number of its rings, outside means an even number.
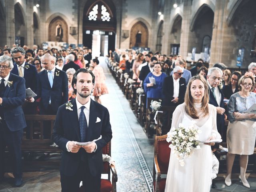
M112 124L112 158L116 161L118 173L118 192L150 192L152 191L152 168L154 146L153 139L148 139L129 103L112 78L108 68L104 66L106 84L109 94L101 97L102 103L110 112ZM0 192L60 192L60 175L58 170L24 172L24 185L14 188L11 183L12 174L5 175L7 180L0 183ZM218 176L216 189L211 192L245 192L256 191L256 174L250 175L250 189L242 186L234 175L230 187L224 185L224 177Z

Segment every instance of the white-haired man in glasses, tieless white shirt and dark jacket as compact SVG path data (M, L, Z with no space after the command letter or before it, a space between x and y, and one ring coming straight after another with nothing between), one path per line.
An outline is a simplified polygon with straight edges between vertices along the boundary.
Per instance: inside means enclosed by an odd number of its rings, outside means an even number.
M163 83L163 106L178 106L184 102L186 92L186 80L182 77L182 68L176 66L173 69L173 74L164 78ZM168 124L168 113L164 114L164 122L162 127L162 134L166 134L170 128Z

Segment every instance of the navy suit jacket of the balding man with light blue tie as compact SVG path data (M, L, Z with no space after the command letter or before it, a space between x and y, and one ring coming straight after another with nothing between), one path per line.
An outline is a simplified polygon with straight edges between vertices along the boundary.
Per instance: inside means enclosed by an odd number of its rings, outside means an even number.
M51 97L51 105L54 113L57 112L59 106L68 101L68 76L67 74L55 68L52 88L48 79L47 70L38 73L37 80L37 98L40 100L40 109L46 110Z

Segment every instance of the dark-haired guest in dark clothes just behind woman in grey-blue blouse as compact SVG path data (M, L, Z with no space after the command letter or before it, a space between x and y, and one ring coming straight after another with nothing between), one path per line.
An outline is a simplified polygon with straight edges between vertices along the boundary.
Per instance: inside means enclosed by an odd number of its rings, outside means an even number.
M242 77L241 72L235 71L231 76L231 81L228 85L224 86L222 92L224 98L230 99L230 96L239 91L238 89L238 80Z

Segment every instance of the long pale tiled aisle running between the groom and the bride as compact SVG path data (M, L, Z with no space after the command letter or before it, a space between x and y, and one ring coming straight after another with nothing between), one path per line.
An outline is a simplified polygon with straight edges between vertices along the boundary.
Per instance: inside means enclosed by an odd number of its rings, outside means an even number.
M152 191L154 141L146 137L107 66L102 67L109 94L102 96L101 100L110 112L111 155L116 161L117 191Z

